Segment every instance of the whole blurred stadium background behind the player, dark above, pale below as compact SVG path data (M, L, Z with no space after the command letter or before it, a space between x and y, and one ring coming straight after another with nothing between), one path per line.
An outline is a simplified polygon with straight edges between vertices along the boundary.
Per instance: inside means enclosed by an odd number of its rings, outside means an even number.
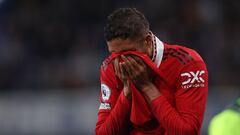
M209 70L202 135L239 94L239 0L0 0L0 134L94 134L105 19L136 7Z

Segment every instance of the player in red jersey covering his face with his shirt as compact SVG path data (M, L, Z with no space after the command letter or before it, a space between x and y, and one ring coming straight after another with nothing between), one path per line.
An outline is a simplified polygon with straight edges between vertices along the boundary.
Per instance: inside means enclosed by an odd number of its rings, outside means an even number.
M110 14L97 135L200 135L208 71L189 48L159 40L135 8Z

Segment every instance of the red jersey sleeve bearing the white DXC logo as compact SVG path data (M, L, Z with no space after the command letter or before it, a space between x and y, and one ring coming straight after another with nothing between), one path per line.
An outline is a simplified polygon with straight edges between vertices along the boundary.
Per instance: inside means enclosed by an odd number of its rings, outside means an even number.
M208 92L208 71L203 61L188 63L175 85L175 105L161 95L152 101L153 114L171 135L199 135Z

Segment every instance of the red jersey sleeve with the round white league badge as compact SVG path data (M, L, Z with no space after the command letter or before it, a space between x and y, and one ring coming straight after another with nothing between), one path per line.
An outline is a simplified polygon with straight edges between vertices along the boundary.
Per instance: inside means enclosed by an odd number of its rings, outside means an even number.
M100 70L101 92L97 135L128 134L130 103L123 92L117 90L113 66Z

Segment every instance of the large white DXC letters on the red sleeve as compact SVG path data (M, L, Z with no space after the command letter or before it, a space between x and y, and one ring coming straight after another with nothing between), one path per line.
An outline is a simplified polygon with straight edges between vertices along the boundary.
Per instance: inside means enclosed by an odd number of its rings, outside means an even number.
M204 79L201 77L202 74L204 74L205 71L204 70L201 70L201 71L197 71L196 73L190 71L190 72L187 72L187 73L182 73L181 76L187 76L188 79L184 82L182 82L182 85L185 85L185 84L188 84L188 83L194 83L194 82L202 82L204 83Z

